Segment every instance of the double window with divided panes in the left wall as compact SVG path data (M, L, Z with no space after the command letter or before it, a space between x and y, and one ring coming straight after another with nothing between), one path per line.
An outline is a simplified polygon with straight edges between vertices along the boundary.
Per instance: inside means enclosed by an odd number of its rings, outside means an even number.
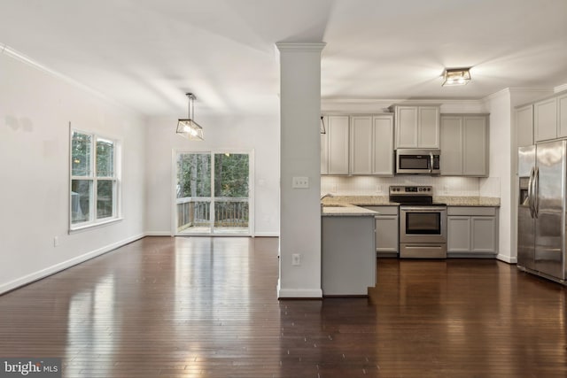
M119 217L118 143L94 134L71 133L71 229Z

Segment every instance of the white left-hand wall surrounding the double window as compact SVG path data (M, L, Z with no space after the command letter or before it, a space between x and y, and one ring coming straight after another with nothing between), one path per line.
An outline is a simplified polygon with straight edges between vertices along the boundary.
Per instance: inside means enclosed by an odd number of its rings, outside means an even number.
M139 115L4 53L0 122L0 293L144 235L144 120ZM72 235L69 122L123 145L124 220Z

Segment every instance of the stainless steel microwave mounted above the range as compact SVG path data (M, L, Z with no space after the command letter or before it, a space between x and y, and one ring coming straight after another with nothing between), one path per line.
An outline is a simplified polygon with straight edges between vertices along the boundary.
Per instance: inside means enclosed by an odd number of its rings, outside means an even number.
M440 174L441 150L396 150L396 174Z

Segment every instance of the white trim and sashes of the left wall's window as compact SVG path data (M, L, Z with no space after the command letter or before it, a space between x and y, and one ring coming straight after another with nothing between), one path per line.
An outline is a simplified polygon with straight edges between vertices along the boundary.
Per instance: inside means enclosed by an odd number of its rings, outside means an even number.
M92 174L90 176L74 176L72 175L73 173L73 164L72 164L72 158L73 158L73 133L81 133L81 134L85 134L85 135L90 135L92 137L91 139L91 157L90 157L90 170L92 172ZM97 140L106 140L106 141L112 141L114 144L114 148L113 148L113 161L114 161L114 176L113 177L97 177L97 172L96 172L96 161L97 161ZM79 128L74 128L71 127L71 123L69 122L69 154L68 154L68 161L69 161L69 166L68 166L68 177L69 177L69 192L68 192L68 211L67 211L67 216L68 216L68 233L69 234L74 234L75 232L81 232L81 231L85 231L88 230L90 228L97 228L97 227L101 227L101 226L106 226L115 222L118 222L120 220L123 220L124 218L122 217L122 189L121 189L121 146L122 146L122 141L119 138L113 138L113 137L109 137L107 135L100 135L98 133L95 132L91 132L91 131L84 131L82 129ZM92 181L92 201L90 204L90 213L92 214L92 220L88 220L88 221L84 221L81 223L73 223L73 216L72 216L72 186L73 186L73 181L74 180L89 180ZM115 182L115 190L116 193L114 195L114 201L113 201L113 216L112 217L106 217L106 218L101 218L97 220L97 208L96 208L96 204L97 204L97 181L98 180L110 180L110 181L114 181Z

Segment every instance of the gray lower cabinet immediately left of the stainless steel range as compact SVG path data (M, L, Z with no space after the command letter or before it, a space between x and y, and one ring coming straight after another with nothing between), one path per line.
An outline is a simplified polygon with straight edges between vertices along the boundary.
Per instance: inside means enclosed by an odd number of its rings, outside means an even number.
M398 257L400 247L400 218L398 206L364 206L377 212L376 220L376 255L379 258Z

